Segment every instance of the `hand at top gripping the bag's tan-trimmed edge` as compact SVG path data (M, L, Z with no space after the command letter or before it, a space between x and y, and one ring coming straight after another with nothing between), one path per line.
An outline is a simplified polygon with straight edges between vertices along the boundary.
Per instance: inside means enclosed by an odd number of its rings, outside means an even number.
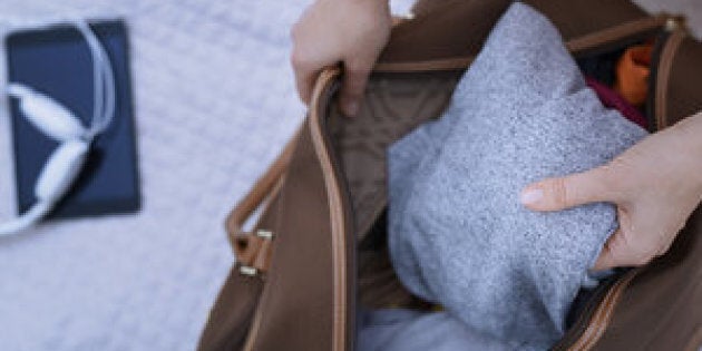
M310 103L324 67L342 62L341 108L355 115L390 27L388 0L316 0L310 6L292 29L292 65L302 101Z

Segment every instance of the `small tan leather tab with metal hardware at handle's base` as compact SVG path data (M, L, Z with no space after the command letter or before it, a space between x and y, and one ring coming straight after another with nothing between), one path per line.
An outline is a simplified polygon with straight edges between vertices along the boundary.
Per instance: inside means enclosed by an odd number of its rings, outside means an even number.
M240 263L241 274L256 276L269 271L273 238L273 232L266 230L257 230L255 234L245 233L235 237L234 252Z

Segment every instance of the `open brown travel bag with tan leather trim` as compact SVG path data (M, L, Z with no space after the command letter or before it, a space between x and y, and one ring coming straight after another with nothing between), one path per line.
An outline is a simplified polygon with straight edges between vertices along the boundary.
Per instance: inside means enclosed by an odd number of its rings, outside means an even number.
M624 0L527 2L556 23L576 58L654 40L652 130L702 109L702 45L681 19ZM357 306L425 305L398 282L384 244L386 148L441 114L508 4L420 2L393 28L354 118L337 108L340 71L321 74L300 131L226 222L238 261L201 351L351 351ZM244 232L256 208L257 224ZM554 350L698 350L701 211L665 255L601 284Z

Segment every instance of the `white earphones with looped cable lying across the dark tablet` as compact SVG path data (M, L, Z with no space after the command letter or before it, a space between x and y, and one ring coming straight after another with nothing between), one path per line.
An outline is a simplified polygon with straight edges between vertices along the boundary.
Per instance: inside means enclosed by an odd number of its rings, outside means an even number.
M105 131L115 115L115 78L105 49L87 22L72 25L82 35L92 55L95 85L90 127L60 103L30 87L11 82L8 95L19 100L21 114L42 134L60 142L41 169L35 196L37 203L16 221L0 225L0 236L20 233L43 218L70 189L80 175L92 139Z

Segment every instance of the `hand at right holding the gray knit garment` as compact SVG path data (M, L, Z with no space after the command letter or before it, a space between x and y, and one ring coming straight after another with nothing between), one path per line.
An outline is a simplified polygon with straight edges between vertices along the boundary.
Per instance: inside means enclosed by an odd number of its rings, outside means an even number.
M620 228L595 270L643 265L664 254L701 197L702 113L650 135L607 165L542 181L521 193L521 202L535 211L616 205Z

